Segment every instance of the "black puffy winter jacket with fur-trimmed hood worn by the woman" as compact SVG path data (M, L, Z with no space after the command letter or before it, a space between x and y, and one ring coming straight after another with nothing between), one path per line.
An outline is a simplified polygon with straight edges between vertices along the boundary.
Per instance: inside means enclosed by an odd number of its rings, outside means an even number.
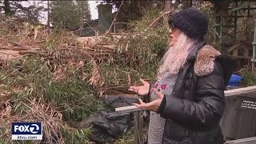
M202 44L187 57L171 95L158 114L166 118L163 144L223 144L219 121L224 90L236 64L212 46Z

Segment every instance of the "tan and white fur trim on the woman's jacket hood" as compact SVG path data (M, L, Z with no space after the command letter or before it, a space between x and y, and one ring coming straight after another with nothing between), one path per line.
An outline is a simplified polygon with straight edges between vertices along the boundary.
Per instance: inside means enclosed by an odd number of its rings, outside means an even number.
M221 55L213 46L202 46L195 58L194 72L197 76L205 76L214 70L214 60Z

